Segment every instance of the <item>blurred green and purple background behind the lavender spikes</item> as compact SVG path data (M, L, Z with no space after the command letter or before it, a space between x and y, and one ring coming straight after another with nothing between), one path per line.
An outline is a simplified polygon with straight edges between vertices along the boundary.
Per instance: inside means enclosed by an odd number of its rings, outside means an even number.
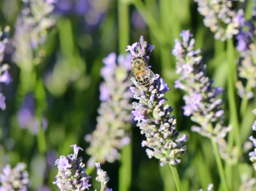
M20 0L0 1L0 26L11 27L10 39L22 5ZM253 6L252 0L237 4L237 7L246 10L247 18ZM174 88L174 81L179 76L175 74L175 57L171 50L174 39L187 29L194 34L196 48L202 49L207 76L213 78L214 86L226 88L227 85L226 43L214 40L210 29L203 25L203 16L197 12L196 3L192 0L59 0L54 15L56 25L50 30L44 45L45 59L36 66L37 77L21 74L12 59L14 46L11 42L8 44L4 63L10 64L13 81L8 86L2 86L7 109L0 112L1 167L6 163L14 167L17 162L25 162L31 180L30 190L40 190L44 185L58 190L52 184L58 172L54 161L60 155L72 153L72 144L85 150L88 143L84 136L96 127L102 59L111 52L125 53L126 46L138 42L143 35L145 41L155 45L149 61L151 70L160 74L171 88L166 97L168 104L174 107L177 129L188 136L187 152L177 166L183 189L206 189L209 183L213 183L217 190L220 179L210 140L190 131L192 122L189 117L184 117L181 108L184 92ZM36 84L36 88L30 89L31 84ZM46 148L38 147L40 136L44 136L42 133L34 135L33 129L23 129L18 122L19 111L28 96L39 97L42 101L41 110L47 120ZM228 118L226 103L224 101L225 116ZM243 142L252 133L251 125L255 117L251 111L254 108L255 102L250 100L245 118L240 119ZM133 125L131 190L174 191L171 171L160 167L157 159L147 157L145 148L141 147L142 140L144 135ZM84 151L79 154L86 163L89 156ZM232 181L236 185L241 182L242 172L247 172L249 177L255 176L247 153L240 161L233 167ZM114 191L118 190L119 165L117 161L102 166L111 178L108 187ZM92 187L97 189L96 172L92 172L91 176Z

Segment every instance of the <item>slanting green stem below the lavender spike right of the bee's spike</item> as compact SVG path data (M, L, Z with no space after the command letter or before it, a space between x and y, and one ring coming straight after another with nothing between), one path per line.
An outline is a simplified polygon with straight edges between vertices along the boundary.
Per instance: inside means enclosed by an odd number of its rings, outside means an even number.
M218 170L219 170L223 190L224 191L229 191L228 185L227 185L227 182L226 182L226 178L225 178L225 174L224 174L222 161L221 161L220 154L219 154L218 145L217 145L216 141L214 140L214 138L211 138L211 143L212 143L212 148L213 148L215 160L217 162L217 166L218 166Z

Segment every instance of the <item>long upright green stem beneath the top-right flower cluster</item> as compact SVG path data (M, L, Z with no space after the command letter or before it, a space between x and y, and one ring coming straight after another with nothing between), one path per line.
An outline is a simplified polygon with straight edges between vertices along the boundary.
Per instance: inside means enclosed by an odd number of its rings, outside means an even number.
M233 147L233 141L235 139L236 146L239 153L241 152L241 139L239 133L239 123L237 114L236 92L235 84L237 81L237 72L235 64L235 50L232 39L227 40L227 58L228 58L228 101L229 101L229 119L232 125L232 130L229 134L229 150Z

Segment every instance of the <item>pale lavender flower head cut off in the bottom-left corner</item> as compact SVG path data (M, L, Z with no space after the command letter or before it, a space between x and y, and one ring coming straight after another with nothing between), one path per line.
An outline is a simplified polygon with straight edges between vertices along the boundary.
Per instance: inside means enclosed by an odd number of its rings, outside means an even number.
M20 162L15 168L11 169L7 164L0 173L1 191L26 191L29 185L28 172L25 170L27 165Z

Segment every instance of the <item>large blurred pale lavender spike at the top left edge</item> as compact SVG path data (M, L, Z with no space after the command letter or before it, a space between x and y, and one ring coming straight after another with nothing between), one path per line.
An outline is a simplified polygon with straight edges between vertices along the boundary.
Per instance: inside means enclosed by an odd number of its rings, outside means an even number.
M42 50L47 30L55 24L51 13L57 0L22 0L24 7L16 22L14 61L27 70L40 63L45 51Z

